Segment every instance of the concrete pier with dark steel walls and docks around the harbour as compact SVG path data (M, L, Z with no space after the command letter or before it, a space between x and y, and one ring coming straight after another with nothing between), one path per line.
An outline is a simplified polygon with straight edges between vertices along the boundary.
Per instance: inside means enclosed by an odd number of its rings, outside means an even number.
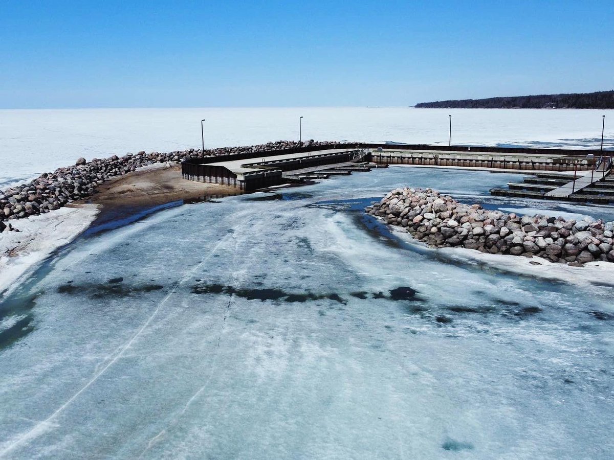
M610 157L597 159L594 154L591 150L561 148L332 144L189 158L182 162L182 176L253 191L283 183L303 183L332 175L370 171L371 167L389 164L488 168L537 174L538 182L530 182L527 178L521 184L510 183L508 189L491 190L494 195L586 201L586 196L597 200L607 196L595 193L601 190L596 182L597 178L604 180L612 169ZM367 162L370 164L365 164ZM579 177L571 180L569 175L542 176L546 172L571 171Z

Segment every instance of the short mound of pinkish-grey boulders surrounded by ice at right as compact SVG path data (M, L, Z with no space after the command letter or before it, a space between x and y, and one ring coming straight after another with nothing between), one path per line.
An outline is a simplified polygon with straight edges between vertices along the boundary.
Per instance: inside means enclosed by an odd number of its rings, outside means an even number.
M397 188L365 211L400 226L432 247L464 247L491 254L537 256L581 266L614 262L614 223L518 217L461 204L427 188Z

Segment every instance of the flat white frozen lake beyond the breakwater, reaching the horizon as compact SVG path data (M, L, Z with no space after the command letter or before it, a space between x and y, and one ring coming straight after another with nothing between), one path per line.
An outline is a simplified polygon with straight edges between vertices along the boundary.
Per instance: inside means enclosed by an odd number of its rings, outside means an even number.
M295 107L203 109L0 110L0 189L79 156L102 158L128 151L303 140L516 144L599 148L601 115L607 115L604 147L614 147L614 110L411 109L408 107ZM612 121L608 121L612 120Z

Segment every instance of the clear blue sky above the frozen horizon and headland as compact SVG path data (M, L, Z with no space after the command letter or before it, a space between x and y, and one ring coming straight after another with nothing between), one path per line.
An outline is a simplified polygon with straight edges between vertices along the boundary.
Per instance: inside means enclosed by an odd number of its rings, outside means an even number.
M0 108L614 89L610 1L0 1Z

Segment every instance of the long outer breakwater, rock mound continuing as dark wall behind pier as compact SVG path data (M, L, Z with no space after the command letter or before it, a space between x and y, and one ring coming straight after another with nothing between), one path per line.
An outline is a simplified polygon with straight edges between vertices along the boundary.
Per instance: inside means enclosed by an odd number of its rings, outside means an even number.
M585 158L588 153L597 153L591 150L572 149L546 149L546 148L507 148L507 147L465 147L423 144L375 144L360 142L316 142L308 140L302 144L297 141L279 140L267 144L248 145L242 147L222 147L212 149L190 148L182 151L160 153L157 151L146 153L128 153L123 156L113 155L109 158L94 158L86 161L79 158L74 166L61 167L53 172L44 173L35 180L0 191L0 232L12 229L10 221L27 218L39 213L47 213L59 209L64 205L87 199L96 193L99 185L110 178L128 172L136 171L139 167L155 163L182 163L182 169L190 165L199 165L211 161L212 157L223 156L226 159L251 159L284 153L300 153L303 151L327 150L330 148L356 149L356 148L388 148L402 151L430 151L430 152L459 152L459 153L494 153L494 154L522 154ZM372 159L376 153L373 153ZM449 165L452 166L452 165ZM461 165L457 165L461 166ZM192 171L186 171L189 174ZM7 221L9 221L7 223Z

